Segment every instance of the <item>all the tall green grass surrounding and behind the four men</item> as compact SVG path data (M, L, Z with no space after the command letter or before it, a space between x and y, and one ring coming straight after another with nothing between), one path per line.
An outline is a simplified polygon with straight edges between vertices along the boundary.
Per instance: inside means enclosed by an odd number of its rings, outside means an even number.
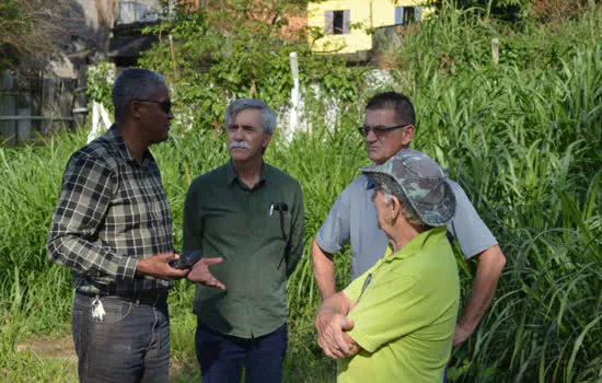
M486 33L501 33L498 26L465 14L454 18L425 24L420 34L406 39L400 90L410 95L418 113L414 147L464 186L508 264L491 309L468 341L454 349L450 379L601 380L602 48L590 43L599 42L600 19L588 13L572 24L580 36L589 37L582 44L563 45L566 49L553 61L544 59L545 49L532 49L529 65L500 60L494 66L486 53ZM481 42L481 47L460 42L465 36ZM534 30L510 37L546 35ZM560 38L553 32L547 36ZM425 48L432 40L437 48ZM310 243L336 196L368 163L354 129L361 121L358 111L363 102L341 108L347 112L334 128L325 127L319 114L310 116L313 134L299 134L290 141L277 137L266 153L267 162L299 179L305 198L305 252L288 288L287 382L334 379L334 364L315 346L312 317L319 293ZM11 380L73 378L61 365L18 352L16 346L31 334L68 328L70 276L46 260L44 242L65 163L84 140L80 131L57 136L46 146L0 149L0 371ZM152 151L180 247L190 179L221 165L228 153L223 139L177 127ZM336 263L337 283L344 286L349 281L348 249ZM459 255L459 265L465 298L475 263L466 264ZM178 282L170 303L172 361L194 370L193 293L190 285Z

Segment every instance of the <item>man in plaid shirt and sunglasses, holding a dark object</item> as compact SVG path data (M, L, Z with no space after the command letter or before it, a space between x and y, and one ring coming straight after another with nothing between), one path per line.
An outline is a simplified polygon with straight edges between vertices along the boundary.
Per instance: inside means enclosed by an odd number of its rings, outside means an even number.
M72 332L82 382L167 382L167 291L189 269L149 146L174 118L163 78L128 69L113 88L116 124L71 155L48 258L73 271Z

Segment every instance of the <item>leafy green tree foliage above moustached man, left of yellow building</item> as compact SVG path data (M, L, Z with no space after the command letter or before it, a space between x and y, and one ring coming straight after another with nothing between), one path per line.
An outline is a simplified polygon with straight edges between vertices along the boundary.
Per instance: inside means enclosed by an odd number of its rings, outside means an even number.
M304 19L306 1L207 0L202 5L181 3L165 14L169 20L147 28L160 43L140 60L172 80L178 102L201 112L197 115L202 126L218 129L232 98L258 97L275 108L287 105L291 51L298 54L302 84L320 81L326 84L325 93L343 101L356 94L345 61L313 55L311 31L291 24ZM173 54L167 35L173 36ZM325 77L336 81L321 81Z

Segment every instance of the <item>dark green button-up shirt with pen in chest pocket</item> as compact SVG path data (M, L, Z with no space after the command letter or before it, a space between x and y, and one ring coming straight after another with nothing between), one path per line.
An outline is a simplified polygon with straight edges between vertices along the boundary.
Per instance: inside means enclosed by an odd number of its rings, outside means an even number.
M200 322L241 338L269 334L287 321L287 277L303 253L299 183L266 163L250 189L231 162L197 177L184 206L184 249L223 257L210 267L225 290L197 285Z

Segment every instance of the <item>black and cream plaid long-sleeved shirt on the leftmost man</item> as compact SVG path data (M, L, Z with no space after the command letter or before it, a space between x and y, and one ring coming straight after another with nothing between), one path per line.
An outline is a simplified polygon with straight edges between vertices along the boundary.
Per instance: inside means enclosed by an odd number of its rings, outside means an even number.
M136 275L139 258L173 251L161 173L136 160L113 126L71 155L48 234L48 258L73 270L80 292L128 294L173 282Z

